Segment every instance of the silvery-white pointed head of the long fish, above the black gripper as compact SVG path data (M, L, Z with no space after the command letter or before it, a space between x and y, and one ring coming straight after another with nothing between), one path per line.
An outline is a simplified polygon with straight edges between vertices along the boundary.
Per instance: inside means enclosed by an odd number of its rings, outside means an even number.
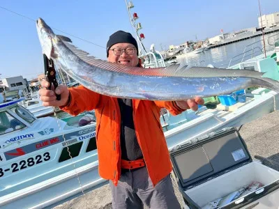
M56 36L42 18L38 18L36 26L43 54L50 59L54 54L53 41L56 39Z

